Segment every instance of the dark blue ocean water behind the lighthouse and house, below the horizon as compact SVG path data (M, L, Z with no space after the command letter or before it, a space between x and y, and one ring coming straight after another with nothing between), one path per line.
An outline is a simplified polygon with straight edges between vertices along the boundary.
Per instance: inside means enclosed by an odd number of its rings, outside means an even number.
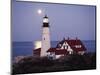
M82 41L85 45L87 52L96 51L96 42L92 41ZM51 46L56 47L58 41L52 41ZM12 42L12 56L31 56L33 55L34 45L33 42Z

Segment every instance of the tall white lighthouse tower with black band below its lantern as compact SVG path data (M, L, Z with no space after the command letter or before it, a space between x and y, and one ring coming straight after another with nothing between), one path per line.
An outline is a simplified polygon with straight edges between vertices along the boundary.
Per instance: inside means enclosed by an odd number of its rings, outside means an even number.
M42 26L42 47L40 56L47 56L47 50L50 48L50 26L49 19L47 15L43 17L43 26Z

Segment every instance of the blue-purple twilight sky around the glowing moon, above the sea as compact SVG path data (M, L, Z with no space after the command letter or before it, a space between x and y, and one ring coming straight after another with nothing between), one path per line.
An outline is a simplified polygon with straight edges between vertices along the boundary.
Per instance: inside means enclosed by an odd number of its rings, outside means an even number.
M37 13L38 9L42 14ZM45 14L49 17L51 40L95 40L95 6L13 1L12 41L41 40Z

